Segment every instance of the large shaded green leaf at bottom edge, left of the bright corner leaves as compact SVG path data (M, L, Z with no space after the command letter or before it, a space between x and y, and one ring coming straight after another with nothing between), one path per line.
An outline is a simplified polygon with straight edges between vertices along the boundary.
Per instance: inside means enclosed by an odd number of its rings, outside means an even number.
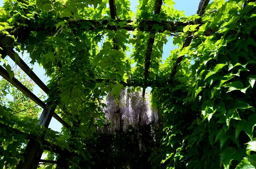
M239 155L239 152L237 152L234 147L228 147L224 149L220 155L221 155L220 160L222 163L224 163L224 166L227 169L229 169L229 166L232 160L238 160L238 161L242 160L241 156Z

